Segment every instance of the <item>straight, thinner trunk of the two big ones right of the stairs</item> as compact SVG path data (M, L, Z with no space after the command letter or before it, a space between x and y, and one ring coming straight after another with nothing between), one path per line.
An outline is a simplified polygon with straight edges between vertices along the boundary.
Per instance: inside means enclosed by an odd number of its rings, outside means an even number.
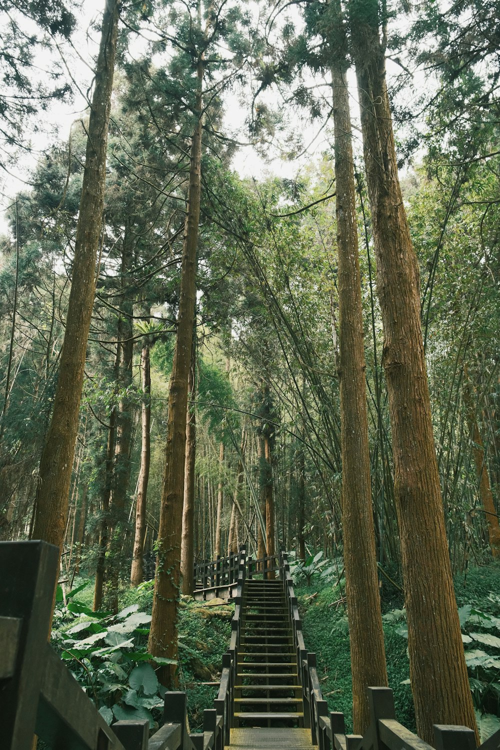
M341 29L340 2L338 28ZM343 33L340 31L340 34ZM340 36L339 34L339 36ZM352 720L356 734L370 724L367 687L388 685L373 526L365 382L363 311L345 38L331 68L335 139L335 210L340 339L340 434L344 565L351 642Z

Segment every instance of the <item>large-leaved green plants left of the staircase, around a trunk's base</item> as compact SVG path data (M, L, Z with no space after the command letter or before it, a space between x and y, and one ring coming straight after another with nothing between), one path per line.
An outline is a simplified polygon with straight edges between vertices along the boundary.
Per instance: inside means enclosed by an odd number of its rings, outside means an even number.
M69 592L66 606L58 588L52 644L108 723L147 718L154 727L165 693L154 664L172 663L147 652L154 582L124 592L121 604L125 606L117 615L91 610L87 596L90 583L83 581ZM217 693L217 688L200 684L193 670L205 669L217 679L230 635L227 619L217 614L205 619L202 614L202 607L183 598L178 628L179 680L181 689L187 691L192 728L202 725L203 709L211 706Z

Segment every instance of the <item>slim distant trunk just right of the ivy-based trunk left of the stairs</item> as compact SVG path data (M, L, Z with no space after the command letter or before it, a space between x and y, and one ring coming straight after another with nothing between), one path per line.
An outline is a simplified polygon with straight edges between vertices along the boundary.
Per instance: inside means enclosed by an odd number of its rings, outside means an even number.
M193 332L193 351L189 375L191 401L194 400L196 369L196 331ZM194 404L187 408L186 426L186 468L184 470L184 507L182 510L181 538L181 591L187 596L193 595L194 563L194 494L196 464L196 411Z

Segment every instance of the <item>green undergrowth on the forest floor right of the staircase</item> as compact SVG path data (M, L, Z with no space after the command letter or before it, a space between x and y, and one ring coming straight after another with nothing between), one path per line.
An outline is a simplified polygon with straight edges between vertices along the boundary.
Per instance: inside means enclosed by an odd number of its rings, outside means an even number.
M396 576L394 576L396 577ZM478 724L487 739L500 728L500 562L469 568L454 580L466 661ZM349 625L344 588L316 584L295 586L307 649L316 652L323 696L331 711L342 711L352 731L352 680ZM382 620L389 686L397 720L415 731L409 685L406 612L403 593L382 583Z

